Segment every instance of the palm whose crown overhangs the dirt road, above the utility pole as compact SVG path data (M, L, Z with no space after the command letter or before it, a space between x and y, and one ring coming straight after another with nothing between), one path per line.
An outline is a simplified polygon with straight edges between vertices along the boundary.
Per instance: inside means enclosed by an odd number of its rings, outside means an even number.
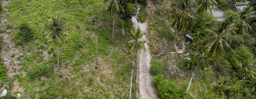
M133 68L133 66L134 66L134 54L137 53L138 51L140 51L141 49L143 51L146 51L145 43L147 43L147 40L140 40L140 38L143 35L146 35L146 32L141 32L141 30L138 28L137 31L133 30L130 33L127 33L127 34L130 34L133 38L133 40L130 40L128 42L128 44L130 44L131 51L132 51L132 54L133 54L133 58L132 58L132 68Z

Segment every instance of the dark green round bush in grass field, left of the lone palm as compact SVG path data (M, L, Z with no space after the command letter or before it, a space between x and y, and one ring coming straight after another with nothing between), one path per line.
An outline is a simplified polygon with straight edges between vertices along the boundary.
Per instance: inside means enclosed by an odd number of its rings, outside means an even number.
M30 39L34 35L32 28L27 23L24 23L24 22L22 22L18 28L19 28L19 32L18 32L19 36L21 36L25 41L30 41Z

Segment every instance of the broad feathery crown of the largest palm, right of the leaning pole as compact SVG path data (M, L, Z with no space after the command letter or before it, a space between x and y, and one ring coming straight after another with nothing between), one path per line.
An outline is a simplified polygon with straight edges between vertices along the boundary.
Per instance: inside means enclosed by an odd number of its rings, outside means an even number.
M206 39L207 42L205 49L208 50L209 56L214 56L213 58L220 57L223 55L223 50L227 49L228 51L233 52L233 49L229 46L228 42L233 40L239 42L242 39L236 36L235 23L232 23L234 17L229 17L224 20L221 26L214 27L213 24L209 24L212 30L205 29L207 33Z

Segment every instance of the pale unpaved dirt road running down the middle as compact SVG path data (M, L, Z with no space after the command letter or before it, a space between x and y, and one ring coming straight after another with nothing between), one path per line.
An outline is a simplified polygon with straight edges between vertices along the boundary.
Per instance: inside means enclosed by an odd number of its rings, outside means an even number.
M142 32L147 32L147 23L138 23L135 17L132 17L133 27L137 30L139 27ZM148 34L148 32L147 32ZM147 36L142 36L141 40L147 40ZM149 53L148 44L145 43L147 51L139 53L139 92L141 99L154 99L154 87L152 82L152 76L149 73L151 55Z

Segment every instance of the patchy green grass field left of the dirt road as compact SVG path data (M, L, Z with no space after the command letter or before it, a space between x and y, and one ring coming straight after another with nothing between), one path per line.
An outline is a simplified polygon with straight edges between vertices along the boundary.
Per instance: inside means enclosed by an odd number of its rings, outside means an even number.
M8 32L22 55L17 56L21 68L12 81L19 83L21 97L52 98L128 98L131 56L127 42L121 38L121 21L115 23L115 44L111 44L112 20L98 0L12 0L6 6L10 21ZM68 35L60 42L60 71L56 72L56 44L44 33L47 16L63 16ZM31 42L17 36L17 27L27 22L34 30ZM128 30L127 30L128 31ZM95 36L98 35L98 70ZM128 63L128 64L124 64ZM104 70L105 69L105 70ZM9 70L10 71L10 70ZM12 71L13 72L13 71ZM58 74L58 75L55 75ZM69 75L66 75L69 74ZM93 75L94 74L94 75ZM100 75L96 75L100 74ZM136 79L136 76L134 76ZM137 86L135 80L133 81ZM133 88L132 98L137 98ZM16 89L12 89L16 92Z

